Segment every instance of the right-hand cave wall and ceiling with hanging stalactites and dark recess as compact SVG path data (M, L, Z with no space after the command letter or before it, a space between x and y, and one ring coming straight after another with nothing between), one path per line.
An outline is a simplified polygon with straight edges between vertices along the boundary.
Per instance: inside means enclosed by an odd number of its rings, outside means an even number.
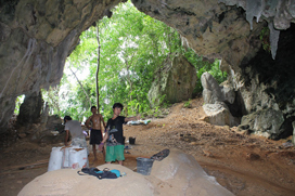
M236 91L240 113L246 115L272 108L282 114L284 123L280 122L282 126L277 126L279 130L275 132L266 128L266 135L280 138L283 133L287 135L286 132L292 134L291 123L295 116L294 55L291 54L295 52L291 25L294 1L132 2L140 11L178 29L197 54L222 58L220 68L230 76L228 84ZM264 44L270 45L268 52L261 50L259 38L265 28L270 29L267 41L264 40ZM268 119L264 120L274 120L271 116L266 117ZM253 128L252 131L261 130Z

